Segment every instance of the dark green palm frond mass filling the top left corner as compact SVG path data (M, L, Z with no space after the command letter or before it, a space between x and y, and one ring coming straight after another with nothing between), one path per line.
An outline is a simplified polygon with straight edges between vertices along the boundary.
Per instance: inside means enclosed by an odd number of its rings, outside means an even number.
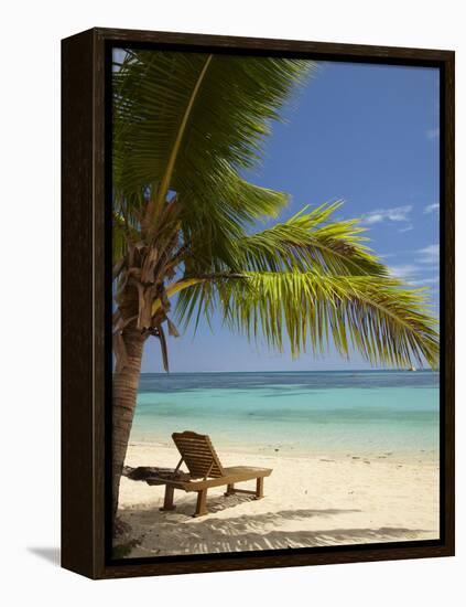
M177 193L187 231L274 216L288 196L242 180L271 120L315 68L303 60L128 51L113 74L113 182L129 199ZM213 237L215 234L213 235Z

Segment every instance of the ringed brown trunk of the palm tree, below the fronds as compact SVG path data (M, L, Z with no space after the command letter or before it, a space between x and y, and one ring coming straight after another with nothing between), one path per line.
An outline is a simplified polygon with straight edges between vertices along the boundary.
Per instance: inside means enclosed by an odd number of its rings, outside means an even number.
M145 336L136 328L123 332L128 362L121 371L113 373L112 390L112 512L113 525L118 511L120 479L127 455L128 440L134 416L141 360Z

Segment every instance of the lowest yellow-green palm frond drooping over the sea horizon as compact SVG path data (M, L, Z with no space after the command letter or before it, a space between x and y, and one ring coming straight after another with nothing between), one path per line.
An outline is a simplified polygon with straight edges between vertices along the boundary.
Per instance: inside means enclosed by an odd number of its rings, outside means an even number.
M389 277L297 270L206 277L182 291L177 306L185 320L219 307L231 329L279 351L288 336L294 356L308 347L322 353L333 341L340 354L353 348L372 364L437 364L437 323L423 290Z

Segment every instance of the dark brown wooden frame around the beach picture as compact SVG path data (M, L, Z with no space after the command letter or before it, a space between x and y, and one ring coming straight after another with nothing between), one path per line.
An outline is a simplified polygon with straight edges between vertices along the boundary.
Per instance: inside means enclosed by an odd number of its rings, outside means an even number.
M111 554L111 49L269 54L420 65L441 77L441 537L112 560ZM452 51L91 29L62 41L62 566L90 578L290 567L454 555L454 97ZM110 196L110 198L109 198ZM111 205L111 203L110 203ZM110 271L109 271L110 268Z

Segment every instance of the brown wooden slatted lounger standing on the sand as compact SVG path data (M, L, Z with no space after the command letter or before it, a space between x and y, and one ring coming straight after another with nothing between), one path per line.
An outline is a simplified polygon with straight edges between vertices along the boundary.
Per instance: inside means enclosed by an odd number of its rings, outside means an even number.
M224 468L207 435L194 432L174 433L172 438L182 456L176 466L173 478L151 477L148 484L165 484L165 499L161 510L174 510L173 492L175 489L183 491L197 491L197 504L194 517L207 514L206 498L210 487L227 486L225 496L235 493L249 493L257 500L263 498L263 479L270 476L271 468L251 468L249 466L234 466ZM183 464L189 473L180 471ZM256 479L256 491L236 489L236 482Z

